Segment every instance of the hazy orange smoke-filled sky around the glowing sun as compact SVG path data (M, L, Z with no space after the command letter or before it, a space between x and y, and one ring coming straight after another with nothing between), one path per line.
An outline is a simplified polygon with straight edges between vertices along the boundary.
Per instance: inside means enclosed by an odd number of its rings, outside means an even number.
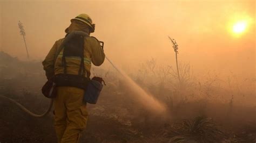
M173 65L170 37L180 61L197 70L225 70L255 76L255 1L1 1L0 48L26 59L18 21L24 25L31 58L43 60L70 19L87 13L93 36L119 65L138 66L150 58ZM245 32L232 25L247 19Z

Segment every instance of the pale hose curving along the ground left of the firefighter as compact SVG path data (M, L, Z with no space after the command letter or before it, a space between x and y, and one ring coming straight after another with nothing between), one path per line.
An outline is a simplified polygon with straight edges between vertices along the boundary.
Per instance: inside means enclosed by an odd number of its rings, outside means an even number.
M32 113L31 111L29 111L22 104L19 104L14 99L8 98L8 97L3 96L3 95L0 95L0 97L4 98L4 99L7 99L8 101L16 104L21 110L23 110L24 112L28 113L30 116L37 117L37 118L42 118L42 117L46 116L51 111L52 104L53 104L53 99L51 99L51 102L50 102L50 105L49 105L48 109L44 113L42 113L41 115L38 115L38 114L35 114L35 113Z

